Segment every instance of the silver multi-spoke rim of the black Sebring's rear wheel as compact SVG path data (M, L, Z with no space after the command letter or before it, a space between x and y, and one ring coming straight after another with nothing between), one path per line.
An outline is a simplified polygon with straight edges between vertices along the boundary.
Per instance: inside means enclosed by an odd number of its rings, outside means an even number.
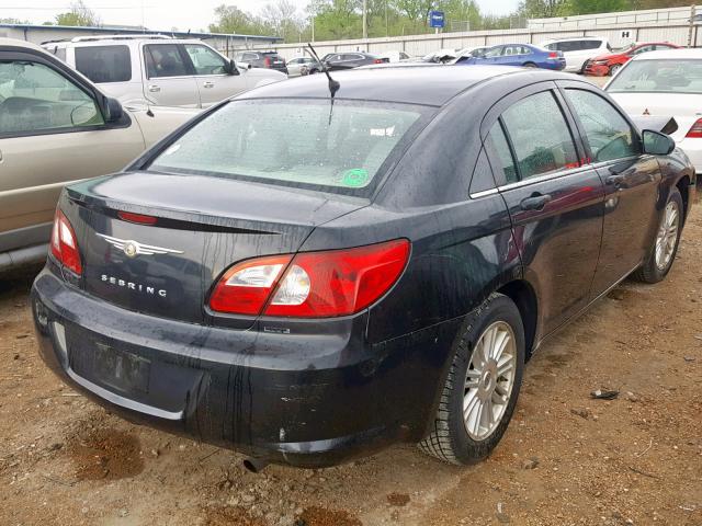
M471 356L463 391L463 422L474 441L484 441L499 426L514 388L514 331L496 321L480 335Z

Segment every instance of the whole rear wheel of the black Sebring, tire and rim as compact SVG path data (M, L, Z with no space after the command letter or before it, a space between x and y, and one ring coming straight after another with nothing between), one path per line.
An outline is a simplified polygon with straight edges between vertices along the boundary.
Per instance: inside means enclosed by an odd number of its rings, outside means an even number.
M492 294L469 315L457 344L424 453L475 464L497 446L514 412L524 367L524 329L517 306Z

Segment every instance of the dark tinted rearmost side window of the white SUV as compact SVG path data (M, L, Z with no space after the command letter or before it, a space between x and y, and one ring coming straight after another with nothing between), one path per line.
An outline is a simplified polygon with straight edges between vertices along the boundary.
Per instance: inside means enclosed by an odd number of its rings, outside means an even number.
M132 80L128 46L76 47L76 69L97 83Z

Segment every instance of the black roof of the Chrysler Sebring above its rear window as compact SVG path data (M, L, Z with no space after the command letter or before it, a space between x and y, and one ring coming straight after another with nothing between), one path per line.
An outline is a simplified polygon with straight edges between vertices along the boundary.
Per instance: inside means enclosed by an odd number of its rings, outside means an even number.
M521 69L509 66L411 66L358 68L335 71L331 77L341 88L337 99L369 100L441 106L458 93L483 81L520 75L542 80L569 79L564 73ZM514 79L517 80L517 79ZM514 89L519 82L514 82ZM302 77L257 88L236 100L247 99L328 99L329 85L324 75Z

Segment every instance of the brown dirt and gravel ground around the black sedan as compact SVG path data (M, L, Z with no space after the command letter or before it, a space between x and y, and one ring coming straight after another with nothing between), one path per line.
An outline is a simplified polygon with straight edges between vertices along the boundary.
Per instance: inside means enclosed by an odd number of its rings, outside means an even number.
M44 367L30 284L0 282L0 525L702 525L700 205L668 279L625 282L546 343L502 443L463 469L400 445L252 474L128 424Z

